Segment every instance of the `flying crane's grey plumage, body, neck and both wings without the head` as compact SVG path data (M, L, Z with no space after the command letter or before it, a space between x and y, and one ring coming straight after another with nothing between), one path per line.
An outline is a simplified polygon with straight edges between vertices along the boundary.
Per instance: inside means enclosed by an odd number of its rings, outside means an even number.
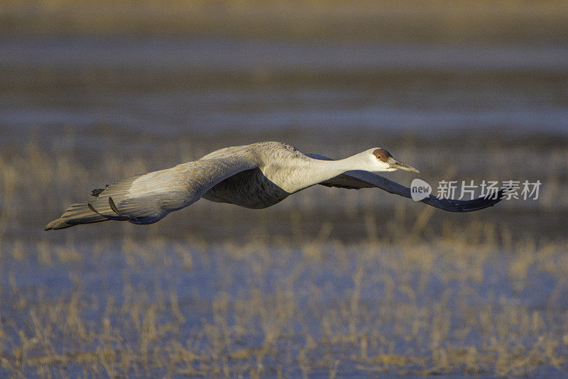
M410 197L408 187L373 172L350 170L355 161L351 158L333 161L322 155L306 155L279 142L222 148L200 160L133 175L96 190L94 199L72 204L45 230L107 220L152 224L202 197L261 209L317 184L352 189L378 187ZM430 196L422 202L450 212L471 212L490 207L499 199L501 194L496 200L480 198L469 202Z

